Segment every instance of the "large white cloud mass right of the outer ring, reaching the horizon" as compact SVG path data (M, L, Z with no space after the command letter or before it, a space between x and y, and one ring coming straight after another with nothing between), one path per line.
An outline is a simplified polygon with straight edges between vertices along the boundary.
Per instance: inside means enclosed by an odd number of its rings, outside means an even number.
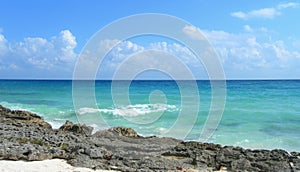
M297 72L289 75L300 65L298 41L289 47L283 40L272 40L273 32L267 28L252 28L250 25L244 25L242 33L201 31L216 50L230 78L268 78L275 75L299 78Z

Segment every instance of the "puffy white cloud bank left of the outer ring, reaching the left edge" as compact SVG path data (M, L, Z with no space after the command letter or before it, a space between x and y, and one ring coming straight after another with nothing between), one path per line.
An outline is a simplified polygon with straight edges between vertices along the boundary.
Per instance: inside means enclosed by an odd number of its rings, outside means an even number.
M63 30L50 39L28 37L16 43L8 42L0 34L1 69L11 66L19 70L20 77L26 73L44 73L47 77L49 72L56 73L57 77L65 72L70 75L77 57L74 52L76 45L76 38L69 30Z

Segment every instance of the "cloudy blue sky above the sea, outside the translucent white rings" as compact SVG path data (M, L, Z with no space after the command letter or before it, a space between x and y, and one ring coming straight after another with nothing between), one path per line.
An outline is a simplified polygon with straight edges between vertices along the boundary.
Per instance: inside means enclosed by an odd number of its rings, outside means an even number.
M0 79L71 79L83 47L97 31L141 13L167 14L191 23L214 47L226 79L300 79L300 1L1 0L0 4ZM116 69L111 66L147 48L179 56L195 75L203 72L178 42L145 36L114 48L99 73L111 77Z

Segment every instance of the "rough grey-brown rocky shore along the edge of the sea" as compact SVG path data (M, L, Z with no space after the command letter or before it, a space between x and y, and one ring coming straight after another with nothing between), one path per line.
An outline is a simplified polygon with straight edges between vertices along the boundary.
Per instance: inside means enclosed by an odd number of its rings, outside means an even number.
M97 131L0 105L0 160L65 159L72 166L119 171L300 171L300 153L142 137L133 129Z

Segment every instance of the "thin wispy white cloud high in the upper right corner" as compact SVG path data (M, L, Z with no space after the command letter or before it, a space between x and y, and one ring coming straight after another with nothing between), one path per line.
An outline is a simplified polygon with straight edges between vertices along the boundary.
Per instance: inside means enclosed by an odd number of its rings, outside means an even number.
M248 12L236 11L236 12L232 12L231 16L244 19L244 20L251 19L251 18L272 19L276 16L280 16L282 14L281 11L283 9L297 7L297 6L298 3L289 2L289 3L279 4L276 7L262 8L262 9L248 11Z

